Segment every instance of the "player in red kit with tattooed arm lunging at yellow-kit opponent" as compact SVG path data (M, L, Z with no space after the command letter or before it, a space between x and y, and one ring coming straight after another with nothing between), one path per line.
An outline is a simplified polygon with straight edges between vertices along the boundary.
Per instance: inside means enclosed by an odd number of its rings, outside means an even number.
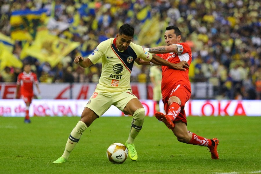
M186 61L189 65L192 61L191 48L186 43L180 43L181 32L176 26L166 27L164 35L166 46L145 48L145 51L156 53L163 59L177 64ZM151 65L153 65L151 63ZM212 159L219 159L217 138L207 139L200 137L187 130L185 103L191 97L191 85L189 81L189 69L175 70L167 66L162 66L162 101L166 114L156 112L158 120L173 131L177 140L187 144L207 146L211 152Z

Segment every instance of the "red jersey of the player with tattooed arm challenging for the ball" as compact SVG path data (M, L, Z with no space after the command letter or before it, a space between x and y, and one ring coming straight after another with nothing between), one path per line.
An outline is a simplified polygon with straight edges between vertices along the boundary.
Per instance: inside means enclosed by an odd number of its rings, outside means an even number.
M186 43L178 43L177 45L183 46L182 54L177 53L165 53L165 54L156 54L161 58L176 64L181 61L187 61L188 64L191 64L192 56L191 56L191 48ZM161 91L162 91L162 98L166 98L171 94L174 86L177 85L184 85L191 91L191 85L189 81L189 69L186 71L182 70L175 70L168 66L162 66L162 83L161 83Z

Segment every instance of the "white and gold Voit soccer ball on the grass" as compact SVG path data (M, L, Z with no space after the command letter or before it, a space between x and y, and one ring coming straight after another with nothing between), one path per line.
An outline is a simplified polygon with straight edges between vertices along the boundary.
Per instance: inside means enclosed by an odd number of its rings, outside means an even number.
M122 164L128 157L128 149L121 143L113 143L107 149L107 158L115 164Z

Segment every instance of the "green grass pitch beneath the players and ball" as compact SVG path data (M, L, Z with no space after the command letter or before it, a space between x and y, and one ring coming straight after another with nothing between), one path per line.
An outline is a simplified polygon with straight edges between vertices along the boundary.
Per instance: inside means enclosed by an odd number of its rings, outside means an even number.
M219 160L207 147L178 142L164 123L146 117L135 140L138 160L113 164L110 144L124 144L131 117L101 117L83 133L65 164L64 151L80 117L0 117L0 173L261 173L261 117L188 117L188 130L220 140Z

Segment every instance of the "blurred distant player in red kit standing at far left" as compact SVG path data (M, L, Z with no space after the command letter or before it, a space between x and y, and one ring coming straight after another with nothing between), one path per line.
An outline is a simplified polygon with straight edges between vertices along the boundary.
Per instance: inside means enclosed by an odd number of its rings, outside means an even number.
M21 72L17 77L16 98L20 98L19 90L21 88L21 96L26 104L26 116L24 122L30 123L31 121L29 117L29 107L32 103L32 98L34 97L33 84L36 85L39 94L40 89L38 86L37 76L31 71L31 65L25 64L23 70L24 71Z

